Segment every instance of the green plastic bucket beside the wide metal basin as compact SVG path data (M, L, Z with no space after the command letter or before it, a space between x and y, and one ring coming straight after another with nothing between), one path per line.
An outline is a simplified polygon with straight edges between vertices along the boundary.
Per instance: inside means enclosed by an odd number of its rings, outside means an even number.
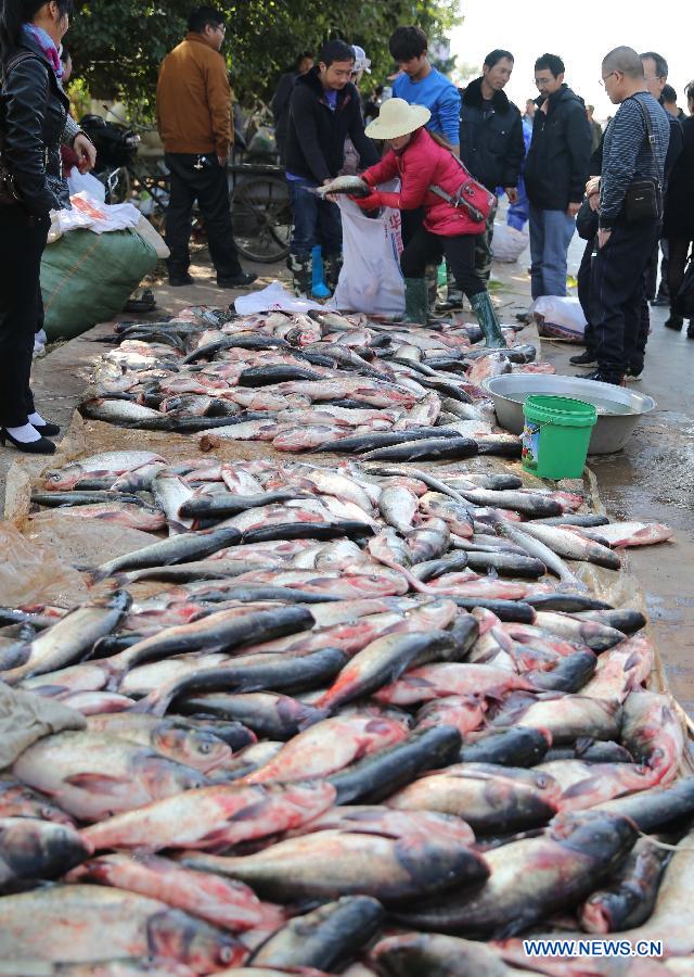
M541 479L578 479L597 420L592 404L531 396L523 405L523 467Z

